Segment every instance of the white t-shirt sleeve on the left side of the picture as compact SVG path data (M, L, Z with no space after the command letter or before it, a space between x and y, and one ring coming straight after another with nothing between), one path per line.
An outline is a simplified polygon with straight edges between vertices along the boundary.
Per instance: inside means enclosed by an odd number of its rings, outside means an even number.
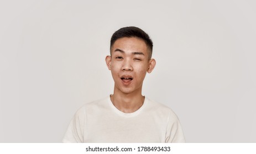
M83 142L83 130L85 128L85 109L80 108L72 118L62 142L81 143Z

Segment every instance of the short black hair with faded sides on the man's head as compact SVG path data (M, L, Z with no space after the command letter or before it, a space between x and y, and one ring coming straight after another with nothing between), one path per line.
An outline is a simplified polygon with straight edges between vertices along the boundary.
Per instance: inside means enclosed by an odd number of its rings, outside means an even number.
M152 51L153 51L153 42L151 38L142 29L139 29L138 27L134 27L134 26L122 27L121 29L114 32L110 41L110 50L114 45L114 42L116 42L116 40L118 40L119 38L123 38L123 37L137 37L142 39L149 48L149 58L151 58Z

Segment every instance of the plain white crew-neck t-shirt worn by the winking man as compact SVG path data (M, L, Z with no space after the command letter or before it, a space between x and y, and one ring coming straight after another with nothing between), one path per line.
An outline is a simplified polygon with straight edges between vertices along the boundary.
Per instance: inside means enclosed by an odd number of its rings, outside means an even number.
M145 97L133 113L119 111L110 97L83 105L62 142L185 142L170 108Z

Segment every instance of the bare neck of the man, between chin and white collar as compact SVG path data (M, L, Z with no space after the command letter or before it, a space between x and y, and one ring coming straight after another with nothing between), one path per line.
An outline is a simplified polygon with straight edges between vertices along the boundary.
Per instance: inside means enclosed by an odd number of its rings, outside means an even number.
M140 92L139 92L140 91ZM133 113L142 107L145 97L141 90L134 91L131 94L124 94L114 89L114 94L110 96L113 105L124 113Z

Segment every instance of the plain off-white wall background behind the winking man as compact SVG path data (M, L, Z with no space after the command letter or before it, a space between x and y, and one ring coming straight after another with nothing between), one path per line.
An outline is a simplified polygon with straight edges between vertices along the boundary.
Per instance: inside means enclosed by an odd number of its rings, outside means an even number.
M256 142L255 1L1 1L0 142L61 142L84 103L113 92L109 41L138 26L156 67L143 95L187 142Z

